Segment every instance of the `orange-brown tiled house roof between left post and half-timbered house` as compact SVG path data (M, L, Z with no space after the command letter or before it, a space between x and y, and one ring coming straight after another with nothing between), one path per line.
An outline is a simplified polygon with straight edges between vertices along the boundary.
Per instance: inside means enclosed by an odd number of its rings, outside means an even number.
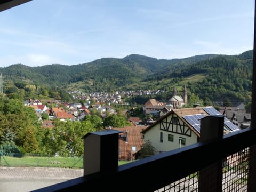
M134 155L137 153L144 141L141 138L141 131L145 129L145 126L126 126L123 128L111 128L113 130L123 131L119 133L119 160L133 161Z

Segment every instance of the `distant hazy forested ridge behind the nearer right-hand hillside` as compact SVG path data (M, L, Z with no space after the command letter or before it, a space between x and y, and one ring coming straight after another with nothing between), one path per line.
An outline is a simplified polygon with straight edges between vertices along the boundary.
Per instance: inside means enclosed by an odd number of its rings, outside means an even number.
M138 54L131 54L123 59L102 58L89 63L73 66L60 64L42 67L28 67L22 64L0 68L6 79L26 81L44 86L63 86L79 81L91 81L95 84L111 83L123 86L139 83L154 75L157 71L165 70L170 66L189 65L191 63L217 57L217 55L196 55L185 59L155 59Z

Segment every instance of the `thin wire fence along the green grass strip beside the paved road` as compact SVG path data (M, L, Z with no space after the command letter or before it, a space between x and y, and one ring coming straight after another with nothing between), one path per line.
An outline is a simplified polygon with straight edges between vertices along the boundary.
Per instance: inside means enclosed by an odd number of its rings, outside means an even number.
M60 157L40 154L0 154L0 166L83 168L83 157Z

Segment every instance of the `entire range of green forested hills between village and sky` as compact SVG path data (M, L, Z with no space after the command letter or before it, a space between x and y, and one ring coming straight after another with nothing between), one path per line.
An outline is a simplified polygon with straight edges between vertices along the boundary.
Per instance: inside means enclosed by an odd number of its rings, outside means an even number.
M216 101L227 97L247 101L251 94L252 59L252 50L239 55L204 54L170 60L131 54L123 59L102 58L73 66L17 64L0 68L0 73L4 89L10 82L23 82L85 92L134 88L171 92L174 84L178 87L186 84L190 95L202 99ZM167 98L163 95L162 99Z

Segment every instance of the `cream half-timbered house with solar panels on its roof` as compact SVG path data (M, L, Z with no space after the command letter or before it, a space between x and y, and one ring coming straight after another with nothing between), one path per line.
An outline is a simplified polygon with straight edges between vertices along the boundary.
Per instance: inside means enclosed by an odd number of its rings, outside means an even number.
M173 109L144 129L142 137L150 140L155 154L197 143L200 138L200 119L208 115L221 115L210 107ZM225 117L225 134L239 130Z

